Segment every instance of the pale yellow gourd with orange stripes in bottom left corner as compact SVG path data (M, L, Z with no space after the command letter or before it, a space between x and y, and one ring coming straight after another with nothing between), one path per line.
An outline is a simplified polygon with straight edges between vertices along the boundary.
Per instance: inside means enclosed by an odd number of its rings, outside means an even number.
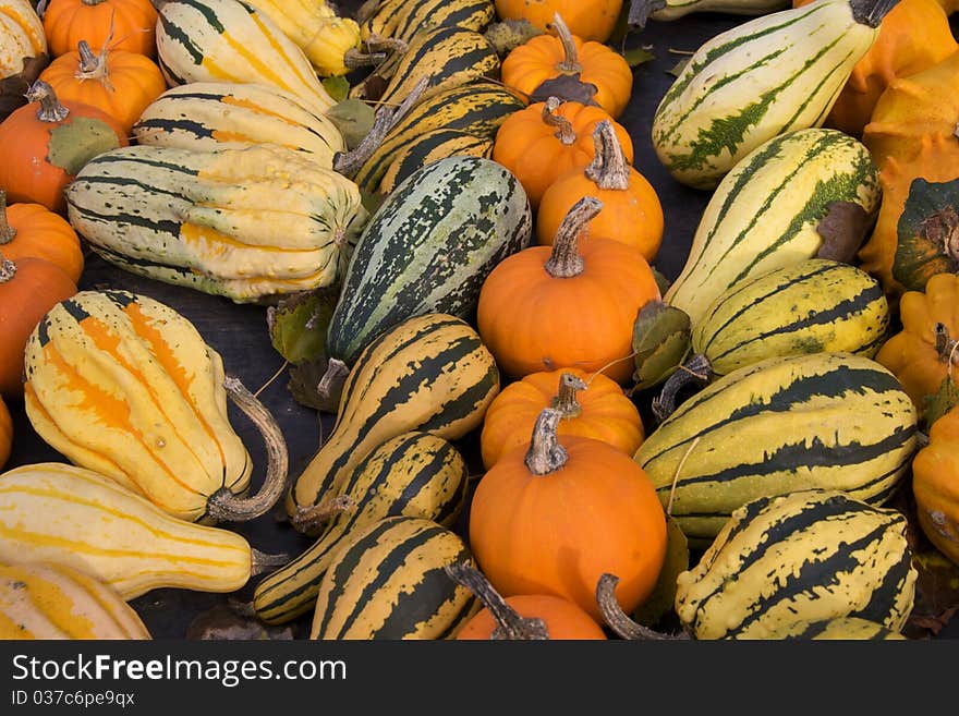
M53 563L0 563L0 640L150 639L116 590Z

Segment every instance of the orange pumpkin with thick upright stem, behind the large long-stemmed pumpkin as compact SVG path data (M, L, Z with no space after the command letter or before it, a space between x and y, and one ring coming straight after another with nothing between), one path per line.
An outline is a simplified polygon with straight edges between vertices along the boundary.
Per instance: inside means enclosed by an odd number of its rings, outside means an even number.
M603 202L590 229L640 250L653 262L663 242L663 204L653 185L630 166L609 120L593 130L595 156L585 169L559 177L543 193L536 214L536 238L551 244L563 217L583 196Z

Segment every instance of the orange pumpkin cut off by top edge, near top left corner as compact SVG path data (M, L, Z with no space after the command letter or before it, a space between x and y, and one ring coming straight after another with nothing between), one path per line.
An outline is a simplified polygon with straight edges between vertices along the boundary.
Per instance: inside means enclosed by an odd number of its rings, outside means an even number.
M53 57L73 50L85 39L93 47L110 47L157 56L157 11L150 0L50 0L44 32Z

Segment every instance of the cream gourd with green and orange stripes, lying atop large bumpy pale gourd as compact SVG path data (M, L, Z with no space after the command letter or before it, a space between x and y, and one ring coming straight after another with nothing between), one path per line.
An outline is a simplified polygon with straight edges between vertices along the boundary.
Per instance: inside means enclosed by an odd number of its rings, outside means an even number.
M278 144L306 153L327 169L347 150L332 120L311 111L294 95L236 82L171 87L144 109L133 136L137 144L199 151Z

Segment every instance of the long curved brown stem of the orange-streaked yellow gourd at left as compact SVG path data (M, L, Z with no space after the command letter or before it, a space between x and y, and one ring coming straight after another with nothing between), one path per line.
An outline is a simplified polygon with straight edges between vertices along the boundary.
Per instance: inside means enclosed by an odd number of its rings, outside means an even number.
M290 456L287 441L276 418L239 379L230 376L223 380L227 395L233 403L256 425L266 442L266 476L259 492L252 497L240 497L221 487L207 500L207 514L217 522L244 522L266 514L287 488Z

